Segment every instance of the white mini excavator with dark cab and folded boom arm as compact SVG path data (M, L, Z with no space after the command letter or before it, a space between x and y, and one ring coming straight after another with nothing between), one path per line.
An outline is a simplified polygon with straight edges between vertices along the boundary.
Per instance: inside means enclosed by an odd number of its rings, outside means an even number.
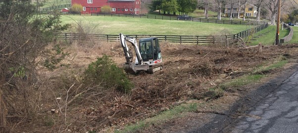
M135 74L141 71L154 73L162 69L162 57L157 38L140 39L138 45L135 38L123 35L122 33L119 36L126 58L124 70L127 73ZM131 43L134 47L137 56L135 62L133 62L132 52L129 51L126 42Z

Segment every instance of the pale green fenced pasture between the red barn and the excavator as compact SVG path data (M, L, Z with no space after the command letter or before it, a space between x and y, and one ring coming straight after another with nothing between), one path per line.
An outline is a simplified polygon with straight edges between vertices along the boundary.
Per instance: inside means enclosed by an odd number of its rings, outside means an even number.
M83 22L99 34L138 34L138 35L212 35L228 29L229 34L247 30L244 25L199 23L192 21L160 20L131 17L110 16L61 16L62 23L76 25L75 21ZM75 20L75 21L74 21ZM92 28L94 27L94 28Z

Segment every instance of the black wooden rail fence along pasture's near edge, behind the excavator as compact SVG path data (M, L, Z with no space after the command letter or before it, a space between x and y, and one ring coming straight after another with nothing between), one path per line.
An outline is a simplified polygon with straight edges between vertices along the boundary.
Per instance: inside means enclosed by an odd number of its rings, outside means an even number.
M268 28L268 23L264 22L257 27L251 28L246 31L242 31L237 34L227 36L179 36L179 35L128 35L136 39L157 37L159 41L172 42L172 43L192 43L192 44L204 44L204 43L217 43L217 42L230 42L238 40L240 38L246 38L254 33L260 32ZM106 41L115 42L119 41L119 35L100 35L100 34L78 34L78 33L58 33L57 39L59 40L94 40L94 41Z

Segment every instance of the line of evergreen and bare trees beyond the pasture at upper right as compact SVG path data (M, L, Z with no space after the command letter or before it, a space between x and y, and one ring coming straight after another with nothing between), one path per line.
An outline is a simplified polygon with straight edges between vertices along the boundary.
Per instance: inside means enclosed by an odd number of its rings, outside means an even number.
M282 6L282 16L288 21L296 20L295 14L292 13L298 7L298 0L281 0ZM163 14L173 14L176 15L176 12L181 14L188 14L190 12L194 12L196 9L203 9L205 18L209 17L208 11L217 12L217 19L221 20L221 16L225 11L226 6L230 8L237 8L237 18L240 18L241 7L246 8L246 5L251 3L257 7L256 20L260 21L260 19L269 19L271 20L271 24L274 24L277 16L278 9L278 0L152 0L149 4L149 8L151 11L158 10L159 14L163 12ZM230 10L232 13L232 10ZM243 12L246 14L245 10ZM285 15L286 14L286 15ZM243 20L246 20L246 16L242 17ZM232 20L232 16L230 15L230 20Z

